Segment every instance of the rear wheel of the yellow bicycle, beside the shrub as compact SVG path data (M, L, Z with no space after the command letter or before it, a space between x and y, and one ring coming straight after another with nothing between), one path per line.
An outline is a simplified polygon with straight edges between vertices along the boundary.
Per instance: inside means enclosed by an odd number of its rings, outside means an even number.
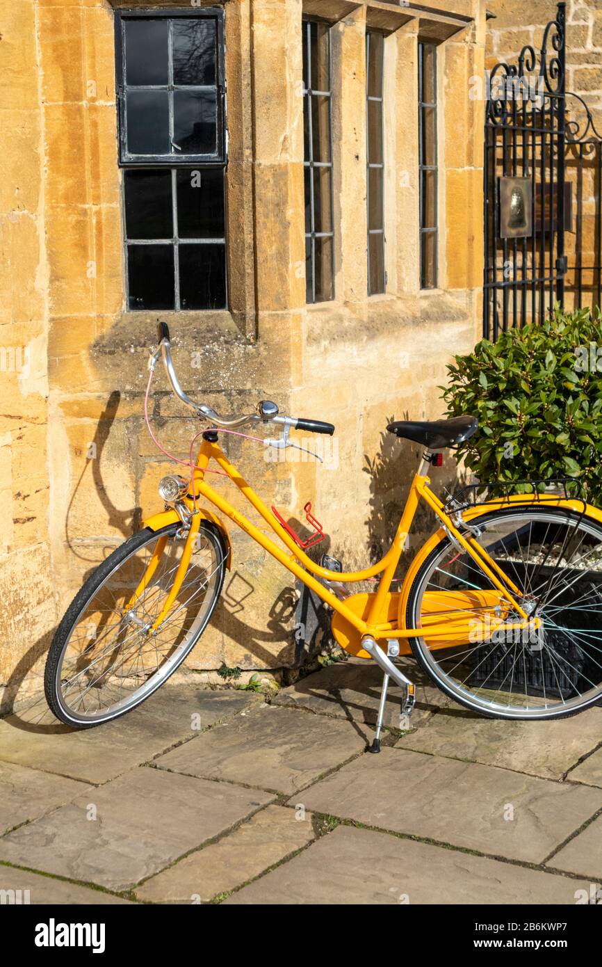
M556 507L518 507L474 518L478 543L520 589L539 629L520 622L463 549L444 537L410 589L406 622L424 671L466 708L489 718L575 715L602 697L602 527ZM429 625L449 625L444 638Z

